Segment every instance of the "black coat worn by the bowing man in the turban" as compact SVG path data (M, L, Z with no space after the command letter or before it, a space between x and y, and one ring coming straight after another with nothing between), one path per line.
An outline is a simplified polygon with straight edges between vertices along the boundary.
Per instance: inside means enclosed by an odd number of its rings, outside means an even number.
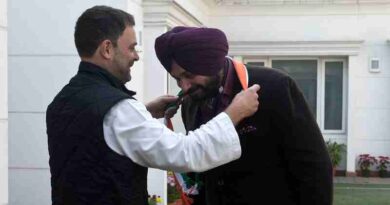
M201 202L195 204L332 204L330 159L302 93L289 76L276 69L247 68L249 86L261 86L260 107L236 126L242 155L201 174L205 196L198 196ZM238 78L234 84L234 93L238 93L242 89ZM186 98L182 118L187 131L199 126L199 119L194 118L198 111L199 105Z

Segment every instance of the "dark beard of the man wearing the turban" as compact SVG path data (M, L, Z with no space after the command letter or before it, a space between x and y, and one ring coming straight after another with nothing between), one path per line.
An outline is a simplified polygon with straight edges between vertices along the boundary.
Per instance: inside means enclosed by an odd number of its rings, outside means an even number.
M199 102L217 95L219 93L219 87L221 87L220 76L211 76L205 85L196 85L192 87L188 91L188 94L192 100Z

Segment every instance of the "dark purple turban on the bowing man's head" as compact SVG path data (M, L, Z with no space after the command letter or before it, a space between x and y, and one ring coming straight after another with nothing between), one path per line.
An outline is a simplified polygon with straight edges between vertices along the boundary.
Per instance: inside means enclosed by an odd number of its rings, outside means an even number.
M229 45L219 29L178 26L159 36L154 48L168 72L175 60L190 73L212 76L223 68Z

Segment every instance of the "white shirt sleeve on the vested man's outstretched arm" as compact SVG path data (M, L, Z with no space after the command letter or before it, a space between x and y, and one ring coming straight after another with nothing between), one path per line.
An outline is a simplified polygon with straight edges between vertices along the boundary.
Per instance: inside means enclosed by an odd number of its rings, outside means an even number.
M175 172L201 172L241 156L238 134L222 112L188 135L172 132L133 99L113 106L103 121L107 145L133 162Z

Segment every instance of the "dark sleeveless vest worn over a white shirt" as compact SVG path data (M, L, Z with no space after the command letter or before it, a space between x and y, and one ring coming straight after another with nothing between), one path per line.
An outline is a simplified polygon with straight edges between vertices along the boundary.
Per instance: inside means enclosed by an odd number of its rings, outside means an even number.
M103 136L105 114L134 94L106 70L81 62L48 106L53 205L147 205L147 168L115 153Z

